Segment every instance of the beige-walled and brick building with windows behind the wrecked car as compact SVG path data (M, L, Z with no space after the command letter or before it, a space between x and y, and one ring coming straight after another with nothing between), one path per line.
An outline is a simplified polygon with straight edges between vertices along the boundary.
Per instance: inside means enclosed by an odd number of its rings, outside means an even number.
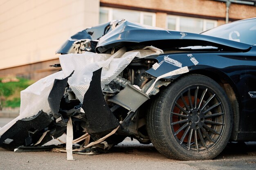
M225 23L227 0L0 0L0 77L56 72L55 51L74 33L127 19L200 33ZM229 0L228 19L256 17L256 0ZM238 3L235 3L238 2ZM241 4L241 3L243 4Z

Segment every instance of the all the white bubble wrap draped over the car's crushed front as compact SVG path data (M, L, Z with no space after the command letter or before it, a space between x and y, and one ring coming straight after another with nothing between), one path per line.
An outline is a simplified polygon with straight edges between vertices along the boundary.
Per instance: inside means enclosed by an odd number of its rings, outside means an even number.
M76 97L83 102L83 96L90 86L92 72L102 68L101 88L109 84L117 75L130 64L134 57L143 58L149 55L159 55L163 51L153 46L143 47L138 50L126 52L122 48L113 55L85 52L81 54L66 54L59 57L61 68L38 82L32 84L21 91L20 115L6 126L0 129L0 135L6 132L15 122L25 117L36 115L40 110L50 113L48 96L54 83L54 79L63 79L69 76L72 71L74 74L69 77L68 83L74 91Z

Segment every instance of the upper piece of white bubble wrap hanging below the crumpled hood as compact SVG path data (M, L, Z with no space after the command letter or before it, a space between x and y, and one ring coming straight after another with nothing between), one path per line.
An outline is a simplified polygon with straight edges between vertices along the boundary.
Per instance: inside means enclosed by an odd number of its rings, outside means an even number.
M65 77L74 71L74 74L68 79L68 84L80 102L83 102L83 96L92 80L92 72L102 68L101 88L103 89L104 85L115 79L134 57L143 58L160 53L162 53L161 50L150 46L128 52L126 52L126 48L122 48L113 55L85 52L61 55L59 58Z

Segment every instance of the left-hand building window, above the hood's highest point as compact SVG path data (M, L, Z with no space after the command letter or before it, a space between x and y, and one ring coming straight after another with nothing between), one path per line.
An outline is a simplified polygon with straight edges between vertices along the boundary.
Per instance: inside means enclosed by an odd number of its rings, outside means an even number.
M118 19L125 19L139 24L155 26L155 13L127 9L100 7L99 24Z

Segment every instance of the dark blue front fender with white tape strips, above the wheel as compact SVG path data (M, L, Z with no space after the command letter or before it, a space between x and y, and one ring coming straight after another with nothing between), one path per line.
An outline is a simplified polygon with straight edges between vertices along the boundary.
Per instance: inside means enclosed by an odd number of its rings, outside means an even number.
M229 83L240 108L238 133L256 132L256 98L251 98L248 94L256 91L256 46L252 46L251 50L245 53L172 53L160 55L156 59L159 67L147 71L154 77L188 66L189 73L209 74L209 77L214 75ZM176 75L166 79L177 77ZM252 138L255 138L254 136L252 135Z

